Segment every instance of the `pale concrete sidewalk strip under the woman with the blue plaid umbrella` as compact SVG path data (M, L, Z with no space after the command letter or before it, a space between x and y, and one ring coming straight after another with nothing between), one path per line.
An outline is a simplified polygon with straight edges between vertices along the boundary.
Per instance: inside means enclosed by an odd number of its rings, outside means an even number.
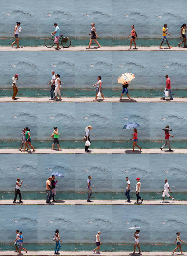
M142 149L134 150L132 149L89 149L91 152L85 153L84 149L36 149L34 153L32 151L21 152L18 149L0 149L0 154L187 154L187 149L172 149L173 152L170 152L168 149Z

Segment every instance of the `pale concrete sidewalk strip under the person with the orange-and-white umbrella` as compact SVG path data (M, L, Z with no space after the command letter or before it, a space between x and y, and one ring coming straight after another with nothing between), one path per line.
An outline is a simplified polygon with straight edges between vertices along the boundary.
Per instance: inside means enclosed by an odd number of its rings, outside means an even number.
M169 100L166 98L165 100L161 100L160 98L133 98L129 100L128 98L124 98L119 100L119 98L105 98L102 100L98 98L98 100L93 101L92 98L62 98L62 101L49 100L49 98L30 98L30 97L21 97L17 98L17 100L13 100L11 97L3 97L0 98L0 102L187 102L187 98L173 98L173 100Z

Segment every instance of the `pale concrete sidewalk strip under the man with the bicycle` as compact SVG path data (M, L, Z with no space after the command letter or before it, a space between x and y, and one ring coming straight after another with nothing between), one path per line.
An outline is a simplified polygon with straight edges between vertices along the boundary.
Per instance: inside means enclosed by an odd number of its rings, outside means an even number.
M179 46L173 46L172 49L169 49L168 46L163 46L163 49L160 49L159 46L137 46L137 49L132 48L131 50L128 50L129 46L102 46L101 48L91 46L90 49L86 49L87 46L70 46L69 48L63 48L61 46L60 50L55 50L55 47L23 46L17 49L12 46L1 46L0 51L187 51L187 48Z

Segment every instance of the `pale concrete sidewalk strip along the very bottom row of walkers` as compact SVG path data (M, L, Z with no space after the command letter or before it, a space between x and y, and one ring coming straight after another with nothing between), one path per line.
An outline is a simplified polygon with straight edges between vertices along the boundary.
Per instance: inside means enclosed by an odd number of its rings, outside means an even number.
M102 244L101 244L102 246ZM92 249L92 248L91 248ZM101 249L101 248L100 248ZM21 250L22 255L29 255L29 256L52 256L54 255L54 251L27 251L27 254L25 254L25 251ZM102 256L129 256L132 255L132 251L101 251ZM187 255L187 252L183 252L185 255ZM0 255L2 256L12 256L17 255L16 252L12 251L0 251ZM97 255L94 254L93 251L60 251L60 255L63 256L93 256ZM162 252L162 251L154 251L154 252L141 252L141 254L135 253L134 255L142 255L142 256L169 256L171 255L171 252ZM175 255L181 255L179 252L175 251Z

